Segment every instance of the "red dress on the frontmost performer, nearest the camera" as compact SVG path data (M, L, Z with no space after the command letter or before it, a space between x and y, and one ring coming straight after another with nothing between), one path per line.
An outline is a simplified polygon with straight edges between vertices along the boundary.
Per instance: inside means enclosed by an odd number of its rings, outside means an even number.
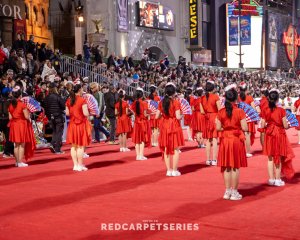
M217 118L224 129L220 137L218 166L222 171L227 167L247 167L245 136L241 127L241 120L246 118L245 112L234 104L231 118L225 108L220 110Z

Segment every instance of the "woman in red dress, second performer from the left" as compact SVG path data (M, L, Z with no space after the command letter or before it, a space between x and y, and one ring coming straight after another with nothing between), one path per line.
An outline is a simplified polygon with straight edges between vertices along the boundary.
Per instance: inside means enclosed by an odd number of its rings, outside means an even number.
M72 144L71 156L74 171L88 170L83 164L84 149L91 142L91 124L88 120L87 102L82 98L81 84L75 84L70 98L66 102L66 115L70 116L67 131L67 143Z

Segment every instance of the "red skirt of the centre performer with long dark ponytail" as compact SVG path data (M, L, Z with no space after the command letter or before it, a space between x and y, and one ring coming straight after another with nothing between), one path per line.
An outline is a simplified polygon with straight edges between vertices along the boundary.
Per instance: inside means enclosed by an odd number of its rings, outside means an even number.
M163 118L161 121L160 135L158 138L162 153L174 155L174 150L184 146L184 137L180 123L175 118Z

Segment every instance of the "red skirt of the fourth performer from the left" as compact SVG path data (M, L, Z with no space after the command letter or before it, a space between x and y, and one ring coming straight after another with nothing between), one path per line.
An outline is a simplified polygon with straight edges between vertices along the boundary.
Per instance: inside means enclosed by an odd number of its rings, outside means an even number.
M151 129L150 124L146 119L135 119L132 142L135 144L145 143L145 146L149 146L151 141Z

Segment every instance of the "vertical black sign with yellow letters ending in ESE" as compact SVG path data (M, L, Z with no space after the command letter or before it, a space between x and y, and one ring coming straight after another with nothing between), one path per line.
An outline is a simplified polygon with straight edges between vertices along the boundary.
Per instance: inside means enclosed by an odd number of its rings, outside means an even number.
M198 0L189 0L190 12L190 45L199 44L198 36Z

